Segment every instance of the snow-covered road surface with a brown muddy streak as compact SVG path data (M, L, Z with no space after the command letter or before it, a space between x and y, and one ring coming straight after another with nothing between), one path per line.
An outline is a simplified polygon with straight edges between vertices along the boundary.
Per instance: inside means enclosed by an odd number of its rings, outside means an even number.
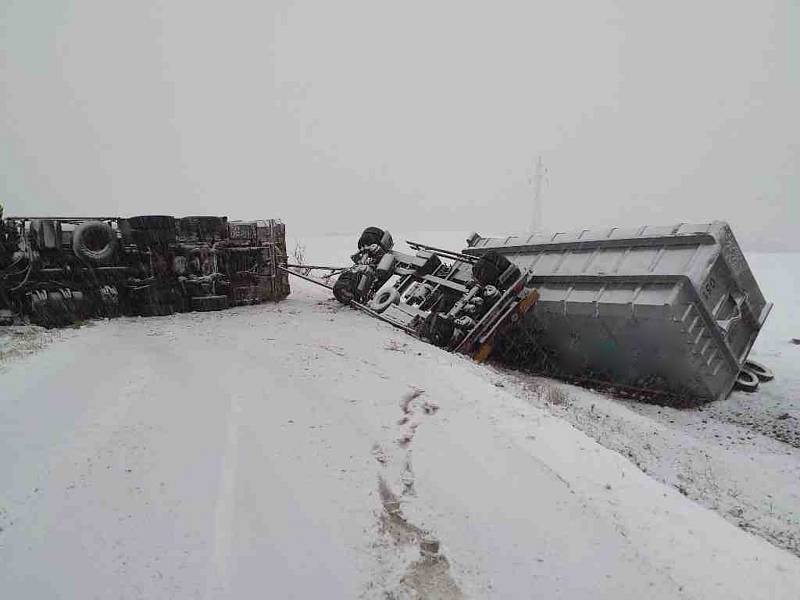
M293 285L0 367L2 597L800 597L789 552Z

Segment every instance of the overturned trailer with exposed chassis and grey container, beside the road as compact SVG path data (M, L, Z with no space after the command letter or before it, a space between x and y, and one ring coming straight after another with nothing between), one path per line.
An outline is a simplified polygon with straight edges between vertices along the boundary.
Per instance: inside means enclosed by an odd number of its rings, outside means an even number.
M753 391L772 305L723 222L481 237L463 251L368 228L340 301L484 361L666 404Z

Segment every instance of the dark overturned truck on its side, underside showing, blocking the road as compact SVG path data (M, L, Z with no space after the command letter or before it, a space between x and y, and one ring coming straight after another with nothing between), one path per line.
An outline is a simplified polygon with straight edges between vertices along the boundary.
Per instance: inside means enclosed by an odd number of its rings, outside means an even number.
M284 225L227 217L0 219L0 324L220 310L289 294Z

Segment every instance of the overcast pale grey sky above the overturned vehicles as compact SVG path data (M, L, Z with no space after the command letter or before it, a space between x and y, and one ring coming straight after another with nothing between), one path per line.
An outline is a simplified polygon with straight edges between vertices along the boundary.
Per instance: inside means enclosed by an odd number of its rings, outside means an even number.
M800 247L796 0L0 0L6 214L730 221Z

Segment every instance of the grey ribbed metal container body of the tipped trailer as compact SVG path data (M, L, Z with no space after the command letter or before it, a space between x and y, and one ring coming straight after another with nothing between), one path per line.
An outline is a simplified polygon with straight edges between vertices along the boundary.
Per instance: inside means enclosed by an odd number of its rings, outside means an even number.
M772 305L727 223L473 235L538 302L498 351L523 369L698 400L725 398Z

